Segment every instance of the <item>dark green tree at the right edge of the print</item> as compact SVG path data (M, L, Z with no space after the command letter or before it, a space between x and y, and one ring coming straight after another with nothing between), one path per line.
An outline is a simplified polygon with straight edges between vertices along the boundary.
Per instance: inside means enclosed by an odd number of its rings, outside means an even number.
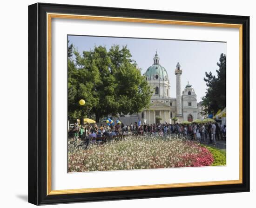
M202 97L202 105L204 106L205 113L216 113L219 109L226 107L226 55L221 54L217 76L212 72L205 72L204 81L208 87L205 96Z

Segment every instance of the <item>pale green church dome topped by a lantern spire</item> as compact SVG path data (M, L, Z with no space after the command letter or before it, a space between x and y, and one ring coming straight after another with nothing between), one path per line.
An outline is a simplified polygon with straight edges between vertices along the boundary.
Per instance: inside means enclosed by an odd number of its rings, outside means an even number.
M154 64L148 67L145 73L145 76L147 80L160 79L160 80L168 81L167 71L163 66L159 64L159 57L157 55L157 52L155 52Z

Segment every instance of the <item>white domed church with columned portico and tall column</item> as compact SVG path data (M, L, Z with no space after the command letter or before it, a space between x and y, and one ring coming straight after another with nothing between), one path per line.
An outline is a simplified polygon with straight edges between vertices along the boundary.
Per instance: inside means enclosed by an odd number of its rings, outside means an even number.
M181 86L182 68L176 65L174 74L176 76L176 97L171 97L170 81L166 69L160 65L160 58L155 53L153 65L148 67L144 73L145 79L153 89L150 107L139 113L141 123L176 123L183 121L194 121L198 118L197 98L195 89L191 84L183 88Z

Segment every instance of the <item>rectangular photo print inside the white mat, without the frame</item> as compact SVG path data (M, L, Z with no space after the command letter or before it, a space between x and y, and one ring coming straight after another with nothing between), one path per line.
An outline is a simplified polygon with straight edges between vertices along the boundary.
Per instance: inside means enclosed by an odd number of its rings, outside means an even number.
M68 34L67 172L226 166L226 58L227 42Z

